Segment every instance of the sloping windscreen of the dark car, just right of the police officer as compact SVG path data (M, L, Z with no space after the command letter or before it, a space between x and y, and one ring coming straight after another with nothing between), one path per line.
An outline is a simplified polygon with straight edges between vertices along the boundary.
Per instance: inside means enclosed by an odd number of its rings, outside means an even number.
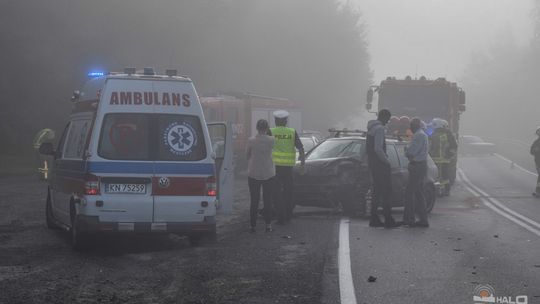
M307 159L362 157L364 152L361 140L327 140L311 150Z

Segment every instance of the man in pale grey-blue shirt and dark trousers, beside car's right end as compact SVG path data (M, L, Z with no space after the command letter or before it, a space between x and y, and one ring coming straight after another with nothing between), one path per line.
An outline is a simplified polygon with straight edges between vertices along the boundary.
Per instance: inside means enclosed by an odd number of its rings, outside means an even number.
M411 120L412 140L405 156L409 159L409 181L405 193L403 224L410 227L429 227L424 197L424 179L427 174L428 136L422 129L420 118ZM416 221L415 214L419 221Z

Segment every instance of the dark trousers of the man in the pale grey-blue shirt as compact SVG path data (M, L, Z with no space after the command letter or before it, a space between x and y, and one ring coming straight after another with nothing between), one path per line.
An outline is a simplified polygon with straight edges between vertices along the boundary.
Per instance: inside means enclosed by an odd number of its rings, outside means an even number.
M403 222L415 222L415 214L420 222L427 223L426 198L424 197L424 179L427 174L427 162L409 163L409 182L405 193Z

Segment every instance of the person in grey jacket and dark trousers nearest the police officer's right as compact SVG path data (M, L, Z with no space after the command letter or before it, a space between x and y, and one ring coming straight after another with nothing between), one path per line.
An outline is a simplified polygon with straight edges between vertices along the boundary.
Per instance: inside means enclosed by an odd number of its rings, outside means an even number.
M390 111L382 109L376 120L367 125L366 151L368 166L373 180L370 227L392 228L398 226L392 218L390 198L392 195L392 176L390 161L386 154L385 125L390 120ZM384 223L379 218L378 209L382 206Z

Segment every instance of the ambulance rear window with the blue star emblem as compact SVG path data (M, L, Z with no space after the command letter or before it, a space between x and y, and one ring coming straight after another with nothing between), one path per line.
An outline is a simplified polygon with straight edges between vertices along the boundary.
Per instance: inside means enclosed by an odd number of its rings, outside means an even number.
M197 116L110 113L98 154L113 160L196 161L206 158L206 146Z

